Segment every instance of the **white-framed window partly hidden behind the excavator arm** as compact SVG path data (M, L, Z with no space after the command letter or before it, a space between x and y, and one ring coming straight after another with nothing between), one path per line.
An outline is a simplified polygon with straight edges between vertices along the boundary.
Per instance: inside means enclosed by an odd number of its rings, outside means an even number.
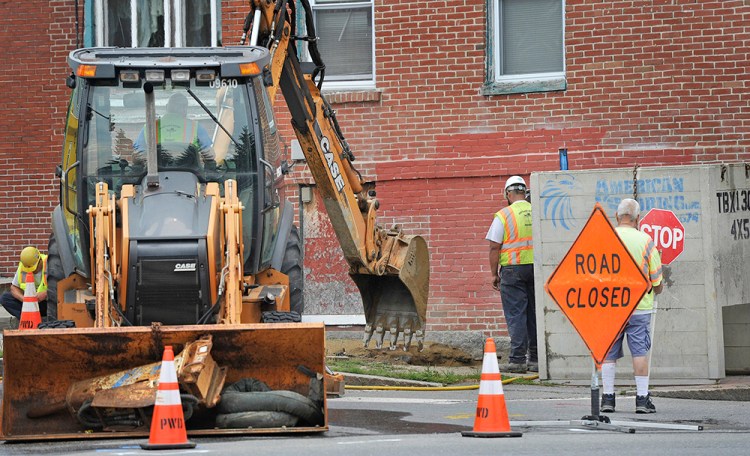
M310 4L326 65L323 88L374 88L374 1L311 0Z

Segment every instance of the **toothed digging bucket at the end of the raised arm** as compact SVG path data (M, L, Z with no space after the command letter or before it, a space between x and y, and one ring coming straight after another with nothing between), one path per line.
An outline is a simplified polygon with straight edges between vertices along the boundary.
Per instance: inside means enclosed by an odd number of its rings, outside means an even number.
M430 282L427 243L421 236L398 232L388 234L386 245L391 253L384 274L351 274L365 308L364 345L374 338L376 348L381 348L388 332L391 350L396 349L399 337L403 337L405 351L416 337L421 351Z

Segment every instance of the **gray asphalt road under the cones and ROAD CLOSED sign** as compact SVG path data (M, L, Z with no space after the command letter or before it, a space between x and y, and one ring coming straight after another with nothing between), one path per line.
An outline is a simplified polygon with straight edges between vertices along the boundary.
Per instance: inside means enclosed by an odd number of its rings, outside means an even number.
M591 412L586 387L506 385L504 398L519 438L462 437L472 430L477 390L353 391L329 400L330 430L324 434L191 438L193 450L161 454L311 455L740 455L750 442L747 402L655 398L657 413L636 415L634 399L618 397L610 415L615 428L579 425ZM571 423L573 421L573 423ZM694 430L701 426L703 430ZM623 432L635 428L635 433ZM147 454L143 440L97 440L0 444L7 455Z

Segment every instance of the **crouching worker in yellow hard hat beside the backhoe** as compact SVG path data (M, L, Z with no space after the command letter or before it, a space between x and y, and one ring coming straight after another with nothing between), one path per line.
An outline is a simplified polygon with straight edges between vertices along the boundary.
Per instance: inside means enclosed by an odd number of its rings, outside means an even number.
M42 316L47 314L47 255L40 253L36 247L25 247L21 250L18 270L13 276L10 291L6 291L0 297L0 302L2 302L5 310L18 320L21 319L23 295L26 290L26 273L28 272L34 273L39 313Z

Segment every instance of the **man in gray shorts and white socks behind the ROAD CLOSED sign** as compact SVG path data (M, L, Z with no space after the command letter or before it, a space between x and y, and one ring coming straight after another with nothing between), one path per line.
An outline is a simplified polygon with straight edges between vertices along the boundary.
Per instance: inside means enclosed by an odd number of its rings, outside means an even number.
M638 303L625 329L617 337L612 349L602 364L602 404L604 413L615 411L615 363L622 358L622 341L628 336L628 349L633 357L633 374L635 376L635 412L655 413L656 407L648 393L649 365L648 356L651 349L651 314L654 311L654 296L661 293L661 257L651 237L638 231L640 205L638 201L625 198L617 207L617 234L627 247L636 264L651 281L651 289Z

